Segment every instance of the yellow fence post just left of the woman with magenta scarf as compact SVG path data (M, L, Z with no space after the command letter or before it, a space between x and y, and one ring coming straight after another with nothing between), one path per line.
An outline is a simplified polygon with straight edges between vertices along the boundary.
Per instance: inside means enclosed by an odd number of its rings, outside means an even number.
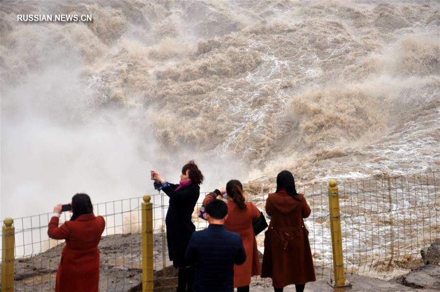
M153 204L145 195L142 203L142 292L152 292L153 282Z

